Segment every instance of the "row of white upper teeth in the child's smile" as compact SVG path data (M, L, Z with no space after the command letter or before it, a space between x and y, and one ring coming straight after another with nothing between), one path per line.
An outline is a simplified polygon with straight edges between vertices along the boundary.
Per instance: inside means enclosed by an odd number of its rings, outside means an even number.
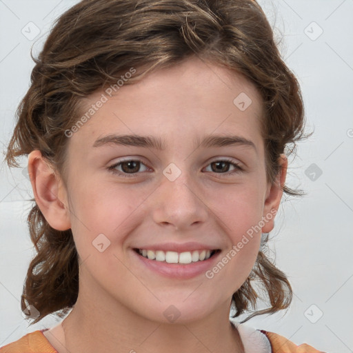
M167 263L191 263L209 259L211 250L194 250L192 252L185 251L179 253L174 251L164 252L163 250L157 250L154 252L153 250L139 249L139 254L150 260L165 261Z

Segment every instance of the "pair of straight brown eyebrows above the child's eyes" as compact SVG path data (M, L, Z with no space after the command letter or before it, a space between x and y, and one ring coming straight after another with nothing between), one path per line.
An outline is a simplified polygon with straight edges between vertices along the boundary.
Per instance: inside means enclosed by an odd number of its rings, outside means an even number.
M200 141L199 137L196 137L194 142L196 143L196 146L203 148L243 145L254 148L256 151L256 146L252 141L235 135L207 135L203 137L202 141ZM166 147L165 140L162 140L159 137L139 136L136 134L109 134L105 137L102 137L101 139L94 141L93 147L99 147L107 144L154 148L156 150L165 150Z

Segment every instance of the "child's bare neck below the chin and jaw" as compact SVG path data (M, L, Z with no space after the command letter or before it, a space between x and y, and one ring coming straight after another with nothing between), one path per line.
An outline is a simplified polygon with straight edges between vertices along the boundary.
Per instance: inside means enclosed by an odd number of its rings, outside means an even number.
M90 302L79 294L62 322L64 344L56 347L58 352L244 352L239 332L230 323L228 305L198 321L178 324L150 321L119 303L111 304Z

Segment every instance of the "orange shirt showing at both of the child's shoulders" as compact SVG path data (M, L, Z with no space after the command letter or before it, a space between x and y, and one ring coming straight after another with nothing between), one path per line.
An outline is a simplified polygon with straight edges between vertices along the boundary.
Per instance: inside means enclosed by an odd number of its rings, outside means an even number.
M57 350L50 345L43 331L45 330L31 332L17 341L0 347L0 353L58 353ZM285 337L275 334L274 332L265 330L261 330L261 332L268 337L271 343L272 353L323 353L305 343L295 345Z

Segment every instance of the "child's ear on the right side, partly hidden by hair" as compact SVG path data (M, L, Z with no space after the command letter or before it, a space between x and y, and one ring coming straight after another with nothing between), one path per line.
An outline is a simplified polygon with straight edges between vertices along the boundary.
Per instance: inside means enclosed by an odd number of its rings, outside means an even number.
M263 207L263 220L265 221L265 225L262 228L263 233L269 233L274 228L274 216L279 210L279 204L281 203L288 168L288 159L285 157L285 154L281 154L281 157L279 157L279 164L281 165L281 169L274 183L268 185L265 196L265 204Z

